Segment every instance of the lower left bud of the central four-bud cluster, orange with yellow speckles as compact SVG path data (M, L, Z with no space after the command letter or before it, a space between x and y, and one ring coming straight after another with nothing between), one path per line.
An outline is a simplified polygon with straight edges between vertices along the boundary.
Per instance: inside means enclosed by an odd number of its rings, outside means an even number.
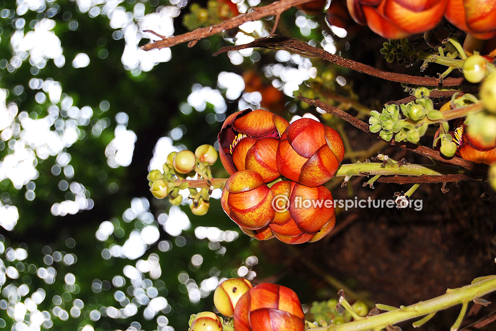
M258 230L274 218L274 194L253 170L234 173L222 191L221 205L226 214L240 227Z

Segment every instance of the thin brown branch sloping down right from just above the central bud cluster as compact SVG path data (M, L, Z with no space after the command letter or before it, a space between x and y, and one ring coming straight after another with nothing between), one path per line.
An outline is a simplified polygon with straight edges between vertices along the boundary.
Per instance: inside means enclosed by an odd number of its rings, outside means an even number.
M322 110L324 110L330 114L334 114L334 115L342 118L343 120L350 123L354 127L362 130L363 132L368 133L369 135L371 135L377 139L380 139L378 133L370 132L369 124L365 123L362 120L359 120L358 118L356 118L353 115L348 114L344 110L339 109L339 108L334 107L334 106L331 106L331 105L328 105L328 104L325 104L320 100L309 99L309 98L306 98L303 96L299 96L299 98L302 101L307 102L308 104L311 104L315 107L319 107ZM409 142L395 142L394 140L391 140L387 143L389 143L390 145L393 145L393 146L399 146L401 148L412 150L417 154L421 154L421 155L433 158L433 159L438 160L438 161L442 161L445 163L450 163L453 165L463 167L463 168L470 170L470 171L473 171L473 172L477 172L477 173L481 173L481 174L487 174L487 166L484 164L478 164L478 163L475 163L475 162L472 162L469 160L465 160L465 159L462 159L462 158L456 157L456 156L452 157L450 159L446 159L437 150L434 150L434 149L426 147L426 146L420 146L420 145L412 144Z

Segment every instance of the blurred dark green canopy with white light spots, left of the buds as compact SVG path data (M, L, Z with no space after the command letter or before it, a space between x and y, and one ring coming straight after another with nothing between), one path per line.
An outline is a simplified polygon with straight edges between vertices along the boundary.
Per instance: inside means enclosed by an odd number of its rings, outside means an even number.
M263 66L253 49L211 56L267 36L266 21L191 49L139 49L156 38L143 30L185 32L186 6L0 0L0 328L185 330L190 314L212 310L219 281L256 276L257 244L220 203L196 217L186 199L153 199L146 174L171 151L218 148L227 114L260 107L259 92L244 92L244 69L258 65L287 96L317 70L284 50ZM336 52L315 20L288 15L294 33Z

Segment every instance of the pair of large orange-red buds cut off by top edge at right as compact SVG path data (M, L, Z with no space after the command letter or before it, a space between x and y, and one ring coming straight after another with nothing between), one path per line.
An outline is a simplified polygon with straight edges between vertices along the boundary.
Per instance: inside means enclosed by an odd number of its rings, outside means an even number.
M347 6L357 23L367 24L388 39L430 30L443 15L457 28L479 39L496 35L493 0L347 0Z

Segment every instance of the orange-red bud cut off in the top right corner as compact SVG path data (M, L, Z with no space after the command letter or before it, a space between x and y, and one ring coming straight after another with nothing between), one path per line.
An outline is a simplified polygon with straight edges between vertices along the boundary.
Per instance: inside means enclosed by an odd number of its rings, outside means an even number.
M448 0L444 17L478 39L490 39L496 35L494 0Z

